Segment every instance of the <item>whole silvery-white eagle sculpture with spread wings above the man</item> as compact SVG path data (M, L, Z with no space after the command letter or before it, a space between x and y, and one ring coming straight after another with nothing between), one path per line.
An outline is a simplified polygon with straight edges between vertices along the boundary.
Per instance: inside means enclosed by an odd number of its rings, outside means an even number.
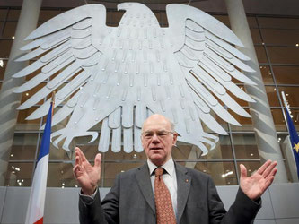
M242 63L250 58L234 48L241 41L223 23L197 8L184 4L166 7L169 27L161 28L154 13L144 4L122 3L125 10L118 27L106 25L106 8L86 4L62 13L42 24L27 39L34 39L22 50L32 50L17 59L39 59L14 78L40 73L14 92L31 90L48 83L19 109L31 108L57 90L53 116L57 125L67 116L65 128L54 132L53 144L89 131L102 121L99 151L143 151L140 134L145 118L153 113L169 117L176 125L179 141L197 145L203 154L215 148L218 137L204 132L201 122L217 134L224 128L211 116L214 111L224 121L240 125L221 101L240 116L250 115L227 93L253 102L232 82L232 77L255 84L238 68L254 70ZM57 74L57 72L60 73ZM69 81L66 83L66 81ZM48 113L50 99L27 119ZM110 140L111 137L111 140Z

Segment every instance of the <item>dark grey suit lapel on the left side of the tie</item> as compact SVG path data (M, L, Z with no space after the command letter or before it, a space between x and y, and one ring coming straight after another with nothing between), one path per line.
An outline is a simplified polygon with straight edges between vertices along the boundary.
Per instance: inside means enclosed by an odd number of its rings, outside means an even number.
M136 170L136 179L140 187L140 191L144 194L145 201L150 205L152 210L155 212L154 206L154 194L152 189L151 177L149 175L148 166L145 165Z

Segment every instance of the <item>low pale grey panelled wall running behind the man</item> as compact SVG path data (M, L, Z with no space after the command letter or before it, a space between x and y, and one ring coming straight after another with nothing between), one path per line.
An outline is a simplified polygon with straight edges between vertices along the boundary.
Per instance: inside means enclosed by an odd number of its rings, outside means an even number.
M5 194L5 190L7 191ZM101 188L101 198L110 188ZM218 186L218 193L226 209L233 203L238 186ZM272 185L263 195L263 206L259 211L255 224L295 224L299 223L299 185ZM47 189L45 204L45 224L77 224L78 220L78 188ZM1 223L24 223L30 187L0 187ZM273 204L272 204L272 203ZM4 203L4 208L2 205ZM277 220L273 219L275 217ZM272 217L272 218L271 218Z

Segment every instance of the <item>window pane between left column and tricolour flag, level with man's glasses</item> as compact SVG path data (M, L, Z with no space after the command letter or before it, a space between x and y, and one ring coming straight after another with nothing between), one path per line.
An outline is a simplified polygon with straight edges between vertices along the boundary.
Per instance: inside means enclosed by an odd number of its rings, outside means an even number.
M38 133L15 133L11 150L11 160L33 160L38 142Z

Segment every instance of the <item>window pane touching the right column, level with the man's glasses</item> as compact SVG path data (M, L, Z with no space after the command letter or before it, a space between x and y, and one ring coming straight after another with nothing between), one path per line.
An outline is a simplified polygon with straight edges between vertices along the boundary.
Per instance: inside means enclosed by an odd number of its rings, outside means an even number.
M254 134L233 134L236 159L259 159L259 150Z

